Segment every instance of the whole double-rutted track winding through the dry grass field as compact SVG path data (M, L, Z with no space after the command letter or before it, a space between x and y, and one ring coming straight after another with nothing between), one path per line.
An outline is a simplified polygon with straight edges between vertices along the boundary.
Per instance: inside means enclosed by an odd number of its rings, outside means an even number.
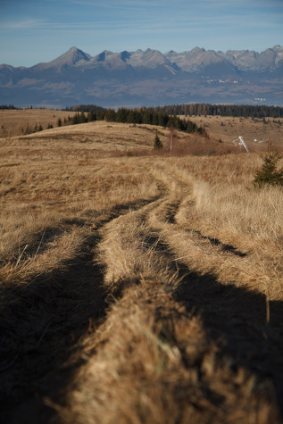
M5 422L282 422L282 304L267 323L253 254L196 228L184 175L147 171L157 197L89 219L85 254L11 292Z

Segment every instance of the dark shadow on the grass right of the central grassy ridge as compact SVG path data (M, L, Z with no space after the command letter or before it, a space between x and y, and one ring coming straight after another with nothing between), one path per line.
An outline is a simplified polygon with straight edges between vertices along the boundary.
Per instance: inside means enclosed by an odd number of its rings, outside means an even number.
M283 303L269 303L268 322L265 295L187 272L184 265L177 300L187 312L201 314L208 337L217 341L220 359L229 357L232 370L244 367L258 378L255 390L272 382L283 417Z

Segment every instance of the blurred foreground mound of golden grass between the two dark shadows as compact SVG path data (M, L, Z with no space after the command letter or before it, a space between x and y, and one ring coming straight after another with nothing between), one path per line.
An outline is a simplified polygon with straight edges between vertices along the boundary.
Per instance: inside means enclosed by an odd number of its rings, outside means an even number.
M91 345L91 342L88 341ZM231 370L170 281L141 279L114 303L67 399L63 422L277 422L268 391ZM271 395L271 394L270 394Z

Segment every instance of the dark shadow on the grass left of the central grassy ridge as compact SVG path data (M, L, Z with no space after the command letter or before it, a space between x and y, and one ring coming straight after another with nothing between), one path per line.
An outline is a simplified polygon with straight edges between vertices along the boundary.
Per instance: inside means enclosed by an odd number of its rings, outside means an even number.
M87 239L88 253L66 263L64 271L31 283L2 287L1 414L5 423L51 420L43 398L57 399L84 362L79 339L104 320L102 271ZM63 366L62 366L63 365Z

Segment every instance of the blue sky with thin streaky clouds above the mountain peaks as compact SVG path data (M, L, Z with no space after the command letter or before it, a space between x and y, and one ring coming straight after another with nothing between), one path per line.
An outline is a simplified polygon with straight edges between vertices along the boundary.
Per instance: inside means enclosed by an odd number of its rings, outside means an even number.
M0 0L0 63L49 62L71 46L99 54L199 46L283 46L283 0Z

